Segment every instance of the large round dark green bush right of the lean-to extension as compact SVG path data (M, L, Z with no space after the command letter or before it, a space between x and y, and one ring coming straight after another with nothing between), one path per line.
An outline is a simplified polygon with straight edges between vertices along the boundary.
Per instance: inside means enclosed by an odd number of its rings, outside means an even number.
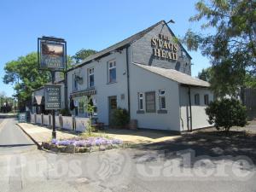
M236 99L222 99L211 102L206 108L208 122L217 130L230 131L231 126L247 125L247 110Z

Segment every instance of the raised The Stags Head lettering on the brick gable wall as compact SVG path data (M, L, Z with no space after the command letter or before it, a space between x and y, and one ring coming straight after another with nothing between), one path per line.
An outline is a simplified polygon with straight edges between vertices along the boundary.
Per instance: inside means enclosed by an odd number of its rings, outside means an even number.
M171 42L167 35L159 34L159 38L151 39L153 55L160 59L177 60L178 45Z

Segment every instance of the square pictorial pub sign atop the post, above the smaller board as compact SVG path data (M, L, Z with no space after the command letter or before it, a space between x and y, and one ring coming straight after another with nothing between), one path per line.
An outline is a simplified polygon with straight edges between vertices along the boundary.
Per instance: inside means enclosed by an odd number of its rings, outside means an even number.
M39 69L63 71L66 68L66 41L62 38L38 38Z

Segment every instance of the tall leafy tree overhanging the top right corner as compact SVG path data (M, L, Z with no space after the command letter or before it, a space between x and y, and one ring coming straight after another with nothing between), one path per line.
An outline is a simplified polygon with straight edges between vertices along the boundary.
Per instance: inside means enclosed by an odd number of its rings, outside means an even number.
M201 49L210 58L215 94L236 96L246 74L256 73L256 2L201 0L195 9L197 14L190 21L201 22L201 29L208 31L189 30L183 40L189 50Z

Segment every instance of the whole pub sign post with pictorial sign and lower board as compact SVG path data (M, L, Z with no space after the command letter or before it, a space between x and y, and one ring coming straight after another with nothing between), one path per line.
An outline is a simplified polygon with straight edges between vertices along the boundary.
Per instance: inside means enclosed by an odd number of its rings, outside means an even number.
M55 110L61 109L61 85L55 84L55 72L67 72L67 43L62 38L38 38L38 68L51 73L51 84L44 86L45 109L52 113L52 138L56 138Z

